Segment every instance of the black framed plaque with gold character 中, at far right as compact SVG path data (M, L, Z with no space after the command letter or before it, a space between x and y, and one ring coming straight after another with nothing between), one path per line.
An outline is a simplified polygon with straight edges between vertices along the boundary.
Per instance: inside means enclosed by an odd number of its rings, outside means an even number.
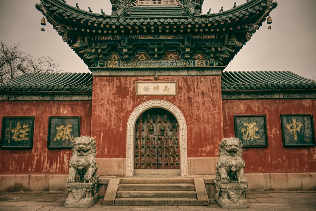
M283 147L314 147L312 114L281 114Z

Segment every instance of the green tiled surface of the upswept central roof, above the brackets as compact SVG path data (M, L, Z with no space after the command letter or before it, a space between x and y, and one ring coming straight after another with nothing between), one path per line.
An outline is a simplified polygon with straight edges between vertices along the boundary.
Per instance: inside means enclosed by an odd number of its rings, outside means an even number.
M36 4L36 8L38 10L42 10L42 8L46 8L51 14L54 14L54 19L59 19L62 22L71 25L74 19L78 21L83 21L83 23L87 24L113 24L112 20L117 19L117 16L111 15L102 15L97 13L91 13L82 9L76 9L73 6L70 6L66 3L61 2L60 0L40 0L41 4ZM258 21L262 17L262 11L266 9L272 10L271 8L275 8L277 6L276 2L270 2L270 0L251 0L242 5L237 6L236 8L229 9L223 12L218 13L210 13L210 14L199 14L200 16L197 18L196 22L202 23L215 23L222 22L224 20L231 21L230 25L234 25L234 21L237 18L247 17L248 22L252 22L252 19L256 19ZM43 12L43 11L42 11ZM44 13L44 15L46 15ZM268 14L265 14L268 15ZM177 22L180 21L180 17L184 17L186 20L190 20L187 15L182 15L182 9L177 5L166 5L166 6L157 6L157 5L146 5L146 6L133 6L131 7L131 15L125 16L120 24L126 23L127 19L154 19L157 18L160 23L161 18L171 18L171 21L168 24L174 23L174 18L177 18ZM48 21L50 21L49 17ZM108 20L107 20L108 19ZM257 20L258 19L258 20ZM107 20L107 21L106 21ZM196 22L192 20L192 24ZM240 19L239 22L242 20ZM264 21L264 19L262 19ZM244 22L244 21L243 21ZM259 24L259 23L258 23ZM91 26L90 26L91 27ZM228 26L227 26L228 27Z

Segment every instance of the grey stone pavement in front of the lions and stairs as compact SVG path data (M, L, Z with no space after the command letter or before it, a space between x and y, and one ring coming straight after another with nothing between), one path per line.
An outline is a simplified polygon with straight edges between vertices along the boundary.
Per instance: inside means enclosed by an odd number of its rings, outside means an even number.
M67 192L0 193L0 211L315 211L316 191L247 191L249 208L210 206L104 206L100 198L90 208L64 207Z

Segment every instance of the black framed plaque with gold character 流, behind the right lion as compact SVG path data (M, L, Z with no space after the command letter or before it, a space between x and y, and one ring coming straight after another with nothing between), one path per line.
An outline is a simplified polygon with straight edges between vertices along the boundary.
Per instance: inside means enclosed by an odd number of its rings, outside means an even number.
M243 148L268 147L265 115L234 115L235 136Z

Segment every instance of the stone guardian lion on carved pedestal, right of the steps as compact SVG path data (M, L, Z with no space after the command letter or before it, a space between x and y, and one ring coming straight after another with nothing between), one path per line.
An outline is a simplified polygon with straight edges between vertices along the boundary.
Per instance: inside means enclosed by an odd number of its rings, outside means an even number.
M248 208L245 192L248 188L244 177L242 144L238 138L223 138L219 143L219 160L215 172L215 201L222 208Z

